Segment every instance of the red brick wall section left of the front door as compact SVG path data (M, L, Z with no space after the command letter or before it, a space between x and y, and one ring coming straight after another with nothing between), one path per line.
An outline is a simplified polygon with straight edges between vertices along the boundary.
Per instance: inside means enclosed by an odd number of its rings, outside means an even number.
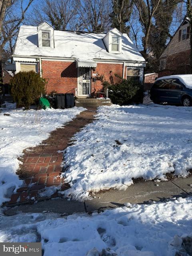
M74 93L74 88L77 87L76 63L42 60L42 77L48 80L47 93Z

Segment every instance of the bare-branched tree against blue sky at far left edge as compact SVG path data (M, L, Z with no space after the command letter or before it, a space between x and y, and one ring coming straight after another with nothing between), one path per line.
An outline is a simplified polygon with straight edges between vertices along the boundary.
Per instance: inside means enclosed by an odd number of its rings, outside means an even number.
M33 0L0 0L0 77L2 76L2 63L5 48L18 33L25 14Z

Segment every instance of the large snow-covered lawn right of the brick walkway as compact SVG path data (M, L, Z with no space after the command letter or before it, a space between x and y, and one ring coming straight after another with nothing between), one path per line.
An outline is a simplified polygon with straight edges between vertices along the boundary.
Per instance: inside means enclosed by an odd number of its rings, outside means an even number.
M64 154L64 193L124 190L132 178L186 177L192 168L192 108L161 105L102 106L96 120L76 134Z

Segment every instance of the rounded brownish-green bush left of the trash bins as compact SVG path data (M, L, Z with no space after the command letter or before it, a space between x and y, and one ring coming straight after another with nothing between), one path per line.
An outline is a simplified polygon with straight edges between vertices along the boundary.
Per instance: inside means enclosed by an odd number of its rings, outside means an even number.
M18 106L29 109L30 105L35 104L41 94L45 93L46 80L41 78L34 71L19 72L11 80L11 91L14 101Z

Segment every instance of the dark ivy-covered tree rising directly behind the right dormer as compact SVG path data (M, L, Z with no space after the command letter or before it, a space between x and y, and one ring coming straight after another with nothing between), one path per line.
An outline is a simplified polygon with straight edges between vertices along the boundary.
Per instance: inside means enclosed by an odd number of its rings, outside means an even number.
M110 14L112 28L117 28L122 33L129 33L128 22L133 10L133 0L112 0L113 11Z

